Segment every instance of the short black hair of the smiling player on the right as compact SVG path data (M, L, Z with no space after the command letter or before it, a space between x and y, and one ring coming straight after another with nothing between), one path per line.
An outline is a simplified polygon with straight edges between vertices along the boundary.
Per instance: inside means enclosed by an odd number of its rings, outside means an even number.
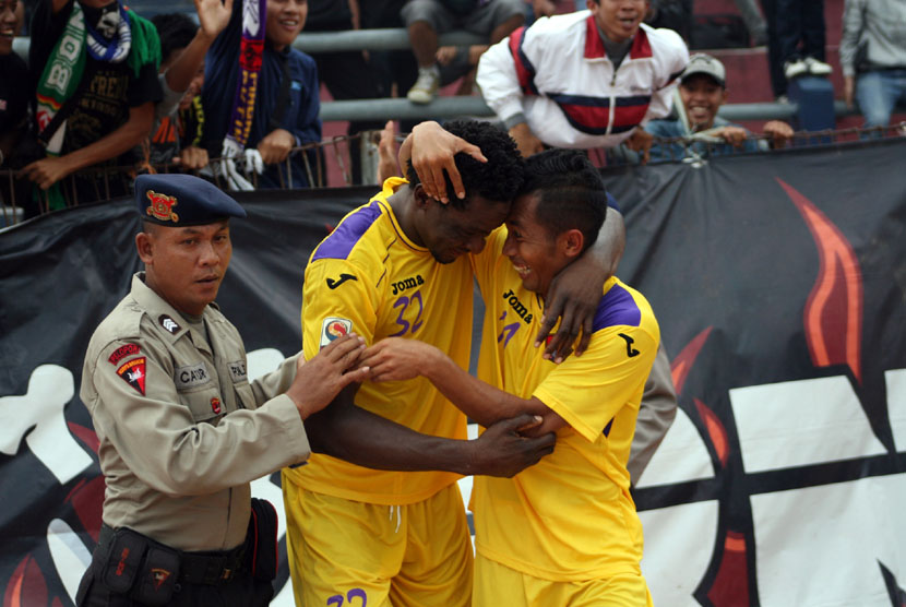
M579 229L585 248L595 243L607 215L607 189L600 172L579 150L546 150L525 162L520 195L536 194L535 221L551 236Z

